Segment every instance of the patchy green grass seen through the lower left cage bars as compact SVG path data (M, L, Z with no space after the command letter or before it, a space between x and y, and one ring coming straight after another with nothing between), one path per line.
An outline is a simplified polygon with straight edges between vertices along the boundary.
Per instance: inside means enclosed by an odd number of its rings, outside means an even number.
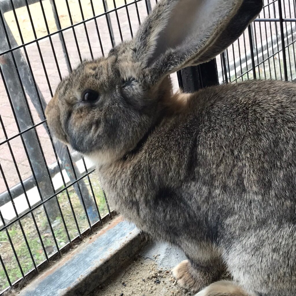
M107 205L104 199L103 192L95 178L95 176L90 176L91 185L94 190L94 195L96 198L96 202L99 208L99 212L101 217L104 217L107 213ZM84 178L85 184L89 189L89 193L91 194L89 182L87 178ZM80 232L82 233L86 229L89 228L89 224L86 218L86 213L84 211L81 202L78 199L77 194L74 191L73 187L68 189L69 197L73 205L74 213L77 219L78 227ZM70 203L67 198L66 191L63 191L57 196L59 201L63 217L65 219L65 224L67 227L67 231L70 237L70 240L73 240L75 237L79 235L77 226L75 224L74 215L72 213ZM54 242L54 237L49 227L49 222L46 218L45 211L43 206L38 207L33 211L33 215L36 219L37 227L40 231L41 240L44 244L44 248L48 256L54 254L57 251L56 244ZM31 253L33 255L33 259L35 264L38 265L46 260L46 256L44 253L44 249L41 244L41 240L38 236L38 232L36 230L36 226L33 222L33 218L31 214L26 215L21 219L22 228L25 232L25 236L27 238ZM62 222L62 217L59 214L57 218L54 220L53 224L53 232L57 240L57 244L59 248L62 248L65 244L69 242L67 232ZM24 236L22 234L22 230L18 222L12 224L8 227L7 231L3 230L0 232L0 254L1 258L4 261L4 265L6 267L7 273L9 275L10 281L13 283L14 281L20 279L22 277L22 273L17 264L17 260L12 249L12 246L9 242L9 237L12 241L13 246L15 247L16 255L20 261L20 265L24 274L29 272L34 268L32 258L28 251L28 247L26 245ZM7 277L5 275L3 267L0 265L0 292L9 287L9 283L7 281Z

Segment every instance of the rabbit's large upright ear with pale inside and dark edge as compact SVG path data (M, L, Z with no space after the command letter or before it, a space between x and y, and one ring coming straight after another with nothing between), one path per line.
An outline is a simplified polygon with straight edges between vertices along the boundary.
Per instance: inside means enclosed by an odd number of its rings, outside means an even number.
M135 58L155 79L209 61L242 34L262 6L262 0L162 0L139 28Z

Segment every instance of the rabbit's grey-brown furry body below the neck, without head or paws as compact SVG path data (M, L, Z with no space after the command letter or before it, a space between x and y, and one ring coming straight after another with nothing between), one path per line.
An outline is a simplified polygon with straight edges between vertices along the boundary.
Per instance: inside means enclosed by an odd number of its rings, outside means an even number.
M226 267L250 295L295 295L296 84L187 96L137 153L98 168L109 202L210 271L196 289Z

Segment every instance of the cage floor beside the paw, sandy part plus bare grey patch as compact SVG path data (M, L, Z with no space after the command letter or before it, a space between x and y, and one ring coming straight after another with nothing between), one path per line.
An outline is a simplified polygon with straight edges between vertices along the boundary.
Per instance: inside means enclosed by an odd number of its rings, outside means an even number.
M89 296L189 296L178 287L171 269L186 259L181 250L168 244L149 243L126 268L107 280Z

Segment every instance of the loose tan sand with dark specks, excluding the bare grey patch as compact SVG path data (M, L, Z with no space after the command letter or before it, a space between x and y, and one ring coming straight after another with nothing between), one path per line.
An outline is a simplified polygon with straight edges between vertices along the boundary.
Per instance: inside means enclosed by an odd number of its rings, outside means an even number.
M170 270L151 259L138 258L107 280L91 296L190 296L178 287Z

